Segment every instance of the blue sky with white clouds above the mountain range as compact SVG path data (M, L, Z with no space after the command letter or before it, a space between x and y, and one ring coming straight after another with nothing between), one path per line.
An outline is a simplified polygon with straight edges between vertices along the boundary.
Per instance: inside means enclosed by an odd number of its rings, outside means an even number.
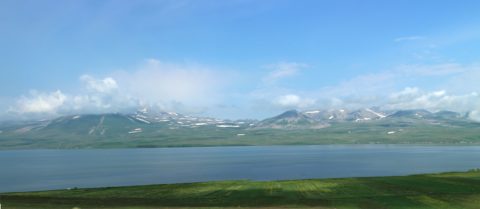
M479 1L2 0L0 120L428 109L480 119Z

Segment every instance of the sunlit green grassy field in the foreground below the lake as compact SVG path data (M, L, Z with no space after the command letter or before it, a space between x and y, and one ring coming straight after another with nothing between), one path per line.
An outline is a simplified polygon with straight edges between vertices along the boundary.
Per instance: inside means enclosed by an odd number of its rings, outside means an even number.
M480 172L295 181L221 181L1 194L3 209L478 209Z

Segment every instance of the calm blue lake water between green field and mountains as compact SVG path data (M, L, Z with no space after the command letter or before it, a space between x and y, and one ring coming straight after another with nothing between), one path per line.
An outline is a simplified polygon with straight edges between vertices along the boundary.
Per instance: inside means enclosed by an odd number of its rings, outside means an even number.
M480 167L480 147L326 145L0 151L0 192L388 176Z

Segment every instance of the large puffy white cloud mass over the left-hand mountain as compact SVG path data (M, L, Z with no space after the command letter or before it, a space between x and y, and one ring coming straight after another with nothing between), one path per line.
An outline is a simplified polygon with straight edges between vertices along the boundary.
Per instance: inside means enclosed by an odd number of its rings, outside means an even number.
M17 99L11 113L39 116L122 112L141 105L200 113L222 101L230 74L196 64L171 64L150 59L138 68L104 78L80 76L76 94L32 92Z

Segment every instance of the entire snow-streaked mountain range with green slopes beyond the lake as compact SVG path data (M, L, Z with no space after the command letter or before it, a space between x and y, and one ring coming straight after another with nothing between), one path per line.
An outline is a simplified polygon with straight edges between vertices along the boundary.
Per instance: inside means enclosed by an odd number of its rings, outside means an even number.
M272 144L475 144L468 114L427 110L289 110L264 120L222 120L141 108L0 124L0 149ZM395 139L395 140L392 140Z

